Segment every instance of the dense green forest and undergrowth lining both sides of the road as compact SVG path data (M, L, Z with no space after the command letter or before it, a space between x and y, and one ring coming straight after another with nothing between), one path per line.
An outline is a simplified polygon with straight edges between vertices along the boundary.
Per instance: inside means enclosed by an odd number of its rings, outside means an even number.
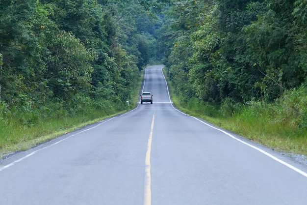
M0 148L128 109L153 63L184 107L306 139L306 0L1 0L0 19Z

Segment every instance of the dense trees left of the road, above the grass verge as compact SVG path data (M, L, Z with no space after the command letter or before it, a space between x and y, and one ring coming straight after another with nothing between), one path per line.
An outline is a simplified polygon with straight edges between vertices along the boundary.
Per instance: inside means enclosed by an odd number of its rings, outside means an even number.
M1 100L35 109L126 98L153 56L155 12L167 2L0 1Z

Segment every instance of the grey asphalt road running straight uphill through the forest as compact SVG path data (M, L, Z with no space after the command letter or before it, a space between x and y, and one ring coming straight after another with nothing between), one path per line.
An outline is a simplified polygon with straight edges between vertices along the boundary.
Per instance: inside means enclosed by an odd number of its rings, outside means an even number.
M0 205L306 205L307 169L176 110L146 69L138 104L0 161Z

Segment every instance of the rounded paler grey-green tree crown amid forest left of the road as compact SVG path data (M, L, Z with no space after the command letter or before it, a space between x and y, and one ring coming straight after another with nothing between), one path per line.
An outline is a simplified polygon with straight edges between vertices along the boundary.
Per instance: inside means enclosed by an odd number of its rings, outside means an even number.
M67 99L79 89L88 91L93 70L90 62L94 60L94 54L65 31L58 33L48 47L47 86L55 96Z

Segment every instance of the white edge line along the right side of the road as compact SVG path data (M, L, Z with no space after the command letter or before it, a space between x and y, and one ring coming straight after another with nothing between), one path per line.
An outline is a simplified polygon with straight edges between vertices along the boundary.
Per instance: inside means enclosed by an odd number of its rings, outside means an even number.
M162 71L162 69L163 69L163 67L161 68L161 71ZM165 80L165 82L166 82L166 79L165 79L165 76L164 76L164 74L163 74L163 71L162 71L162 75L163 75L164 80ZM185 113L182 113L181 111L179 111L178 109L176 109L176 108L173 106L173 102L171 101L170 93L169 93L169 91L168 91L167 82L166 82L166 87L167 87L167 93L168 93L168 96L169 96L169 99L170 99L170 102L171 102L172 107L173 107L175 110L177 110L179 113L181 113L181 114L183 114L183 115L186 115ZM186 115L186 116L187 116L187 115ZM193 116L189 116L189 117L193 117ZM251 144L249 144L249 143L247 143L247 142L244 142L244 141L242 141L242 140L240 140L240 139L234 137L234 136L231 135L230 133L228 133L228 132L226 132L226 131L224 131L224 130L218 129L218 128L214 127L214 126L211 126L210 124L205 123L204 121L202 121L202 120L200 120L200 119L198 119L198 118L196 118L196 117L193 117L193 118L196 119L196 120L198 120L198 121L200 121L200 122L202 122L202 123L204 123L205 125L207 125L207 126L213 128L213 129L216 129L216 130L218 130L218 131L220 131L220 132L223 132L224 134L228 135L228 136L231 137L232 139L234 139L234 140L236 140L236 141L238 141L238 142L240 142L240 143L242 143L242 144L244 144L244 145L247 145L247 146L252 147L253 149L256 149L257 151L261 152L262 154L265 154L266 156L270 157L271 159L273 159L273 160L275 160L275 161L277 161L277 162L283 164L284 166L286 166L286 167L292 169L293 171L295 171L295 172L297 172L297 173L299 173L299 174L301 174L301 175L307 177L307 173L306 173L306 172L304 172L304 171L302 171L302 170L300 170L300 169L298 169L298 168L296 168L296 167L294 167L294 166L292 166L292 165L290 165L290 164L288 164L288 163L282 161L281 159L279 159L279 158L273 156L272 154L270 154L270 153L264 151L263 149L260 149L260 148L258 148L258 147L256 147L256 146L253 146L253 145L251 145Z

